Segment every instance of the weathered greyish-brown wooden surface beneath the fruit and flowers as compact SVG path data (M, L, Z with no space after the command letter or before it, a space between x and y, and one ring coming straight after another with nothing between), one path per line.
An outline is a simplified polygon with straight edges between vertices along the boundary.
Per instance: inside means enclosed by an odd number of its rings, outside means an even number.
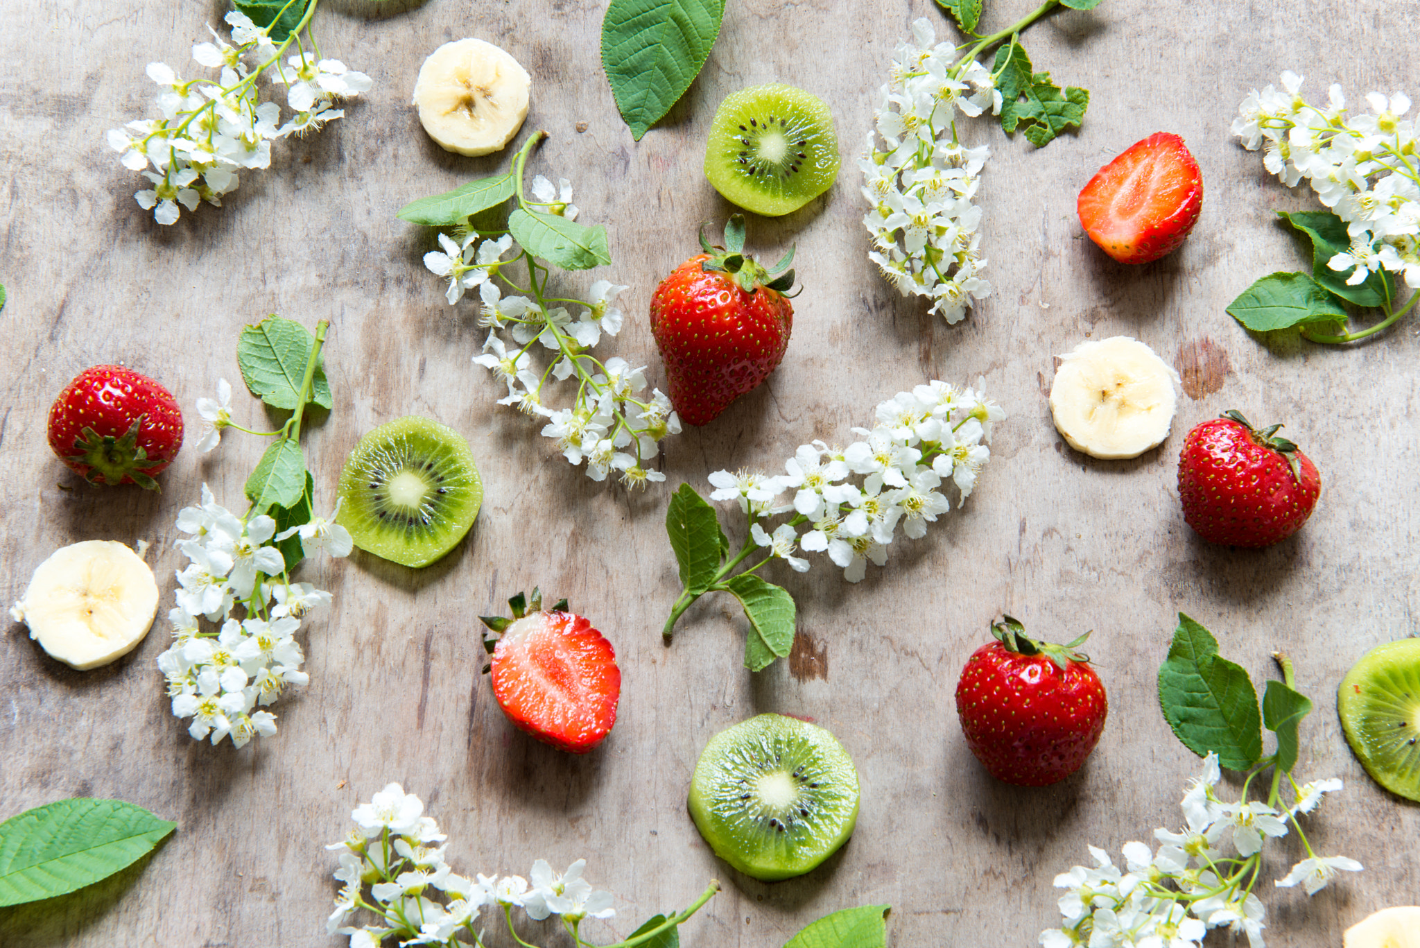
M344 836L356 803L399 780L449 831L456 871L527 874L540 857L554 866L585 857L589 878L616 895L616 918L585 930L598 941L689 903L719 877L724 891L682 930L687 945L774 948L822 914L868 903L893 907L889 941L899 948L1032 945L1058 918L1051 880L1088 860L1086 843L1118 858L1125 841L1180 823L1177 799L1198 760L1170 735L1154 692L1180 610L1214 630L1254 679L1271 674L1274 650L1295 658L1299 688L1316 701L1298 772L1346 782L1309 833L1366 871L1314 900L1265 881L1272 944L1336 945L1370 911L1420 901L1420 809L1366 777L1335 713L1346 668L1410 634L1420 608L1420 323L1333 350L1250 337L1224 313L1258 276L1305 266L1272 210L1319 206L1230 136L1238 102L1284 68L1308 77L1314 101L1333 81L1352 102L1370 90L1414 95L1420 61L1406 26L1420 11L1414 1L1106 0L1034 27L1025 44L1037 68L1088 87L1089 114L1078 135L1038 153L1000 128L966 124L970 141L991 148L980 203L995 293L956 327L876 276L859 223L855 162L893 47L919 16L939 24L940 38L953 36L927 0L731 0L700 78L639 144L599 70L602 3L327 0L315 20L325 55L364 70L375 88L327 131L278 142L271 169L243 173L227 206L185 212L172 227L135 205L142 182L119 166L104 132L148 115L148 61L200 71L190 44L207 38L204 26L224 6L7 6L0 593L17 598L62 544L146 539L169 608L183 564L170 546L178 509L196 502L203 482L239 503L264 446L233 433L199 455L195 401L219 377L239 381L237 333L271 311L307 325L331 320L335 408L304 438L318 507L334 500L359 435L406 414L469 438L487 496L467 542L429 569L359 551L302 567L302 578L335 597L304 632L311 684L275 706L278 736L243 750L195 742L170 716L153 664L166 648L162 618L133 654L89 672L51 661L10 624L0 638L0 816L68 796L121 797L179 829L139 868L84 895L0 910L0 944L342 944L325 935L337 884L322 846ZM1000 28L1032 6L993 0L984 26ZM581 219L611 232L613 264L571 280L630 286L626 330L605 351L649 365L660 385L645 318L650 291L694 250L699 222L731 212L700 172L716 105L740 87L782 80L834 109L838 183L801 212L748 225L751 247L765 254L798 244L804 293L784 364L714 424L666 442L666 485L628 493L592 483L537 425L494 405L498 387L469 361L483 341L471 308L450 310L420 264L432 233L395 217L413 198L507 162L507 152L440 151L409 105L423 57L463 36L507 48L534 75L525 131L542 128L550 139L530 173L571 178ZM1159 129L1181 134L1197 156L1203 216L1177 253L1118 266L1081 233L1075 193L1113 153ZM1149 343L1190 384L1163 448L1096 462L1062 443L1045 394L1052 355L1116 334ZM160 379L187 415L189 448L162 493L91 489L45 443L60 388L111 361ZM899 539L888 567L858 586L822 557L807 574L770 571L799 603L790 661L747 672L744 620L714 597L684 615L670 648L662 644L679 591L663 515L679 482L704 490L719 468L778 470L812 438L846 443L849 426L869 422L873 405L899 389L978 374L1011 418L963 510L923 540ZM261 424L258 404L237 388L236 418ZM1180 515L1181 435L1225 408L1285 421L1322 470L1311 522L1268 550L1203 544ZM616 729L585 758L515 732L479 675L476 615L534 584L591 617L621 661ZM1054 787L994 782L956 722L958 669L1001 610L1055 640L1095 630L1109 722L1089 763ZM706 740L764 711L832 729L863 789L852 841L778 884L717 861L684 807ZM1285 840L1262 878L1279 878L1296 858L1299 843ZM565 944L551 927L528 931Z

